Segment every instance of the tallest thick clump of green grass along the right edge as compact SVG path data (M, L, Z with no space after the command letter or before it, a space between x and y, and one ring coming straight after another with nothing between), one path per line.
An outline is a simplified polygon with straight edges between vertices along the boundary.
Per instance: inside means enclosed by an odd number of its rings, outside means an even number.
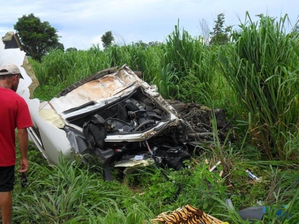
M246 14L233 44L219 50L220 71L249 113L252 144L270 159L298 158L298 36L285 31L287 15L252 21ZM298 45L297 45L298 46Z

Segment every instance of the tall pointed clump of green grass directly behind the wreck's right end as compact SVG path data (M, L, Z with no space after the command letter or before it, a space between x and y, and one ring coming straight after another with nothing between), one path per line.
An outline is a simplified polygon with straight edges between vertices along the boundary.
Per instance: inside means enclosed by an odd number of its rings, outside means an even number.
M165 53L163 56L163 68L167 68L168 76L171 77L171 88L169 97L180 98L182 95L193 95L192 98L184 100L193 100L193 102L207 105L207 97L213 95L213 83L216 81L216 57L212 53L213 49L203 43L201 37L194 38L189 33L179 28L179 24L174 27L171 34L167 36L165 44ZM163 73L162 73L163 74ZM165 80L157 76L159 81ZM190 82L190 80L193 82ZM168 83L163 82L163 83ZM193 83L199 85L193 86ZM189 86L188 84L191 84ZM191 89L198 88L197 94ZM213 97L211 97L213 98ZM209 99L209 98L208 98Z

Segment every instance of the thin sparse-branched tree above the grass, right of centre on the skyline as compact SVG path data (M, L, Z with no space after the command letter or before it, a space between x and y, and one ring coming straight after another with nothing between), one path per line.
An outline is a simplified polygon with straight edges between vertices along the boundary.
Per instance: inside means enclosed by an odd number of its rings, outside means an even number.
M215 26L213 28L213 32L211 34L210 44L226 44L229 41L228 32L231 30L231 26L227 26L224 28L224 13L220 13L217 15L217 20L215 22Z

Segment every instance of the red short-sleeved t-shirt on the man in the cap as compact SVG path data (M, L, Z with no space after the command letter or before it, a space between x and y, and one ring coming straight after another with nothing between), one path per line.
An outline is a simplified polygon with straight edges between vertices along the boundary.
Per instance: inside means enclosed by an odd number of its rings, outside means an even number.
M24 99L10 89L0 88L0 166L15 165L15 128L32 126Z

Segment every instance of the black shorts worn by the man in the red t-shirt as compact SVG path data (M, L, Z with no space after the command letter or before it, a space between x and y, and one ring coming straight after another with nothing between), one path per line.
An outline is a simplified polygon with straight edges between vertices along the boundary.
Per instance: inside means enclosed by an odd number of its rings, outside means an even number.
M0 166L0 192L13 190L14 166Z

